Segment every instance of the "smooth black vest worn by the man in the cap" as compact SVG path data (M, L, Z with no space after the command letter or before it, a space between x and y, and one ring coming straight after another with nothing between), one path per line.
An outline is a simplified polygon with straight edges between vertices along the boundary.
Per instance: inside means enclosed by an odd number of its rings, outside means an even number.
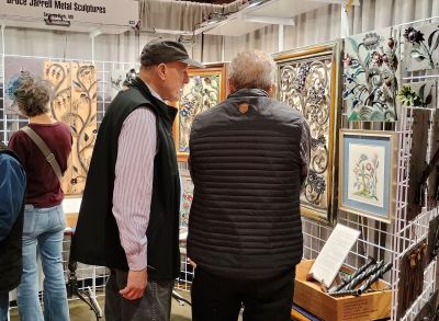
M112 213L112 200L122 125L140 106L147 106L156 114L158 139L146 231L148 265L154 267L148 268L148 278L172 279L180 271L180 183L172 138L177 110L154 98L139 78L128 90L117 94L99 128L70 255L72 260L86 264L128 270Z

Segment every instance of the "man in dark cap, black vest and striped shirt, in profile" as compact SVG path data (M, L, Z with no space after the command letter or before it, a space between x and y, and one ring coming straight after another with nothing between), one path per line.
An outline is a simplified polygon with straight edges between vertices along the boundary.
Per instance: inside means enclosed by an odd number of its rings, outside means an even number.
M139 76L110 104L87 177L72 261L111 270L105 320L169 320L179 274L180 184L172 123L189 82L183 45L153 41Z

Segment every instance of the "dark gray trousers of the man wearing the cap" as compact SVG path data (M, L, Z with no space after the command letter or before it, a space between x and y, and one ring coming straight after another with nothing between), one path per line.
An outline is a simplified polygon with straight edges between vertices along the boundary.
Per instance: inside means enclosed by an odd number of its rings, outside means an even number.
M127 300L119 291L126 286L128 273L112 271L105 286L106 321L169 321L173 279L148 280L145 294L137 300Z

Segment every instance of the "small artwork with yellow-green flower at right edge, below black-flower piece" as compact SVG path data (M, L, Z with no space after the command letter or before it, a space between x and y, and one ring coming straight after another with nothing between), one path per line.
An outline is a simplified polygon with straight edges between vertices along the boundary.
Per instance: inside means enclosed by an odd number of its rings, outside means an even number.
M402 85L397 99L405 106L436 110L437 82L419 81L405 83Z

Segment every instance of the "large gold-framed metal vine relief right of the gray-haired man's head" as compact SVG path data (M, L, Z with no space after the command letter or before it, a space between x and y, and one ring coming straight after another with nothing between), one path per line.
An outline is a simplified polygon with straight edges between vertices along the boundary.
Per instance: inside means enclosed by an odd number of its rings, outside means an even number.
M340 104L341 43L274 55L278 65L278 100L297 110L308 123L311 161L301 195L301 213L333 222L337 197L336 141Z

